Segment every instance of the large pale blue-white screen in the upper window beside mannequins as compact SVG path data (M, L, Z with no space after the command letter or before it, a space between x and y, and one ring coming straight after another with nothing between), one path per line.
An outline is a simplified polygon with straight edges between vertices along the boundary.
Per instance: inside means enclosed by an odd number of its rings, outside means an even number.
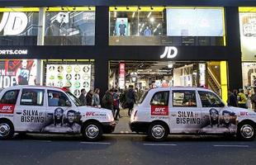
M168 8L166 19L168 36L223 36L220 8Z

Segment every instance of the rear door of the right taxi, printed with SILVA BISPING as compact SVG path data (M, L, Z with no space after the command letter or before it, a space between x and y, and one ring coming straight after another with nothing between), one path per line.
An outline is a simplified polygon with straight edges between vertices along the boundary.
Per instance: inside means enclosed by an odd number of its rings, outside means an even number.
M173 90L169 108L171 133L197 134L201 128L201 110L196 92Z

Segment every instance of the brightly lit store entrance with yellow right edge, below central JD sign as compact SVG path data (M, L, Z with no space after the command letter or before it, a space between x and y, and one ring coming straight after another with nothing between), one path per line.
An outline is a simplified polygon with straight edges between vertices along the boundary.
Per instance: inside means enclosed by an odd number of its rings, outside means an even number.
M133 85L145 91L151 87L207 87L220 97L227 97L225 61L112 60L109 68L109 88Z

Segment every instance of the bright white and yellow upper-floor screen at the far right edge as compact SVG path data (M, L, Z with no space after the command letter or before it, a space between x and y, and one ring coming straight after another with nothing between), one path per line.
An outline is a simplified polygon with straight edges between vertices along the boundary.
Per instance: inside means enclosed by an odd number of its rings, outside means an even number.
M255 60L256 52L256 13L239 13L240 41L242 50L242 60Z

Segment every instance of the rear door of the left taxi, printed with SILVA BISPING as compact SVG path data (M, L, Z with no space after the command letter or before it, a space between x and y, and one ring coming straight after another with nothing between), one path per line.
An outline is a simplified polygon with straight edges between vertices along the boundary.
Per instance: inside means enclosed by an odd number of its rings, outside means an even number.
M40 132L45 125L45 111L45 89L22 89L15 108L15 130Z

